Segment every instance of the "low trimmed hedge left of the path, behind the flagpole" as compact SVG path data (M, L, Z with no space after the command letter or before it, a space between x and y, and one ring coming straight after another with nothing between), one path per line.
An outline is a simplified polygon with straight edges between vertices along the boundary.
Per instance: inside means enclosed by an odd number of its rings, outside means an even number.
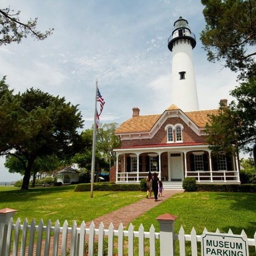
M90 191L90 183L77 184L75 192ZM140 184L94 183L93 191L141 191Z

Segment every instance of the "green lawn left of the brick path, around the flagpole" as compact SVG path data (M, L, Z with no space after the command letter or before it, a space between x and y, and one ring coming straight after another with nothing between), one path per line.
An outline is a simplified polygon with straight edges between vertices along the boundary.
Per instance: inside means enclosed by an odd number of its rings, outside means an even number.
M36 223L42 218L48 220L65 220L71 224L73 220L80 225L84 220L102 216L105 213L134 203L144 197L144 192L109 192L94 191L93 198L90 192L74 192L75 185L62 187L32 188L20 191L14 187L0 187L0 209L11 208L18 210L14 220L18 217L30 222L35 218Z

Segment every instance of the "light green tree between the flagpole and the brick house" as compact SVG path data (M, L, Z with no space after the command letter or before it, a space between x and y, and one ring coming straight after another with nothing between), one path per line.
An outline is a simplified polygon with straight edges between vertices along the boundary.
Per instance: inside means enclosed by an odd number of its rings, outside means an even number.
M97 151L102 154L104 159L109 163L109 169L115 163L114 148L120 146L120 140L115 136L114 132L118 127L118 123L104 123L97 130Z

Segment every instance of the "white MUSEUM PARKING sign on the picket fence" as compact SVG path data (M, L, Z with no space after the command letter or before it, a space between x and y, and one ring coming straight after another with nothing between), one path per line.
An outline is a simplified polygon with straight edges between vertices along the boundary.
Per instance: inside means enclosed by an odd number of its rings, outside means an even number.
M249 256L244 236L204 232L201 237L202 256Z

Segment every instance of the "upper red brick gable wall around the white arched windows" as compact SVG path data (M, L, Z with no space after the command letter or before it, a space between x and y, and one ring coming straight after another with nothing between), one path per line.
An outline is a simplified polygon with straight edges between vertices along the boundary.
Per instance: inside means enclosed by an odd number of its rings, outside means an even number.
M205 142L205 136L197 135L187 124L179 117L168 118L166 122L160 127L158 132L151 139L131 139L121 141L121 147L132 147L146 144L162 144L167 143L167 131L164 129L166 125L176 125L180 123L183 125L183 142ZM175 135L175 133L174 133Z

